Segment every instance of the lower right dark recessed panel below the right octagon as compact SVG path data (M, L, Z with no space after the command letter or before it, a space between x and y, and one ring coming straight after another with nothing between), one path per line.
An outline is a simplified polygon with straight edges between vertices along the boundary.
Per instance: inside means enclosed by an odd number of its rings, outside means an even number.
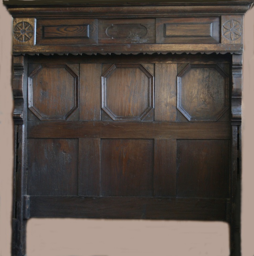
M229 140L177 140L177 197L228 197L229 166Z

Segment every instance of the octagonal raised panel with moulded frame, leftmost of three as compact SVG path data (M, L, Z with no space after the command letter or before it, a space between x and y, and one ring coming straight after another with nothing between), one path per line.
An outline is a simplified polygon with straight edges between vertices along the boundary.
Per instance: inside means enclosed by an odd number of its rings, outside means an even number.
M68 65L40 65L28 86L29 109L40 120L66 120L78 108L78 76Z

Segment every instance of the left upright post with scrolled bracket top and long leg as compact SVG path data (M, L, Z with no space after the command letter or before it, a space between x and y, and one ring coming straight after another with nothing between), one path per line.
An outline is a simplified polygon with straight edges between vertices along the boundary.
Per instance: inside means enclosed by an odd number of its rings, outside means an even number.
M14 164L13 164L13 209L11 253L24 255L26 252L26 220L24 219L23 197L27 194L27 62L24 56L13 56L13 121L14 121Z

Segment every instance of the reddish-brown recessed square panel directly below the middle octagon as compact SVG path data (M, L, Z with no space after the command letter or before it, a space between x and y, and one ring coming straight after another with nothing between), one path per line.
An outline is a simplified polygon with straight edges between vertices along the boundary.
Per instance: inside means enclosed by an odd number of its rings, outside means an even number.
M151 139L101 139L101 196L153 196Z

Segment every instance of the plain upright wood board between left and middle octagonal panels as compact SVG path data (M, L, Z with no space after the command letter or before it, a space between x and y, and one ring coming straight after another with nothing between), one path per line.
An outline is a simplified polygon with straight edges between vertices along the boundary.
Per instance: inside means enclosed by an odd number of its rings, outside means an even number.
M80 64L79 120L101 120L101 64Z

